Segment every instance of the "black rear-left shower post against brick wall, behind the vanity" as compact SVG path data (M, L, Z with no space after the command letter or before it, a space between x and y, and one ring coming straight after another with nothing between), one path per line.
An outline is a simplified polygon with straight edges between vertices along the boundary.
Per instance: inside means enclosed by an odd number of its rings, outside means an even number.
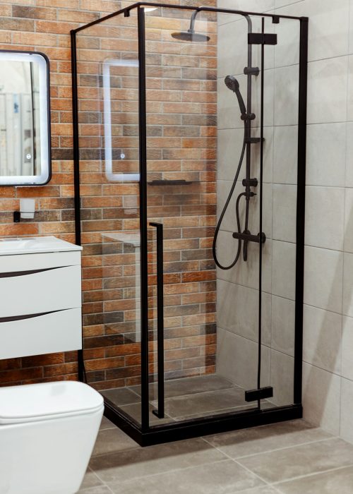
M72 80L72 113L73 113L73 188L75 208L75 241L81 245L81 214L80 214L80 147L78 141L78 80L76 58L76 31L71 30L71 80ZM82 332L83 348L83 332ZM78 350L78 380L85 382L85 362L83 349Z

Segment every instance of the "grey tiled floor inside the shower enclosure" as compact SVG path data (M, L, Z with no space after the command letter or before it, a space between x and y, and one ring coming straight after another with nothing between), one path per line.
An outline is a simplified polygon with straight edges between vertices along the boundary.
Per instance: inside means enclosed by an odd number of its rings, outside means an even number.
M150 423L181 421L205 414L224 414L254 406L253 403L245 402L241 387L216 374L166 381L164 393L165 418L161 421L152 414L158 404L157 385L150 385ZM140 421L139 386L104 390L102 394L136 421ZM263 406L266 406L265 402L263 400Z

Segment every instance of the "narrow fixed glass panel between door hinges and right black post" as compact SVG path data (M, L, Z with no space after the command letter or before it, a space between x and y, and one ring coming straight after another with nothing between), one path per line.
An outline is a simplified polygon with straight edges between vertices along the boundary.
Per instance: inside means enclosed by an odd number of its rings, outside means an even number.
M297 201L302 200L297 197L300 27L292 19L280 23L265 19L265 32L270 30L277 35L277 44L265 46L266 61L271 52L264 74L265 112L271 111L273 120L264 128L263 202L272 231L263 251L262 323L270 354L270 402L286 406L294 402ZM265 175L266 167L272 178Z

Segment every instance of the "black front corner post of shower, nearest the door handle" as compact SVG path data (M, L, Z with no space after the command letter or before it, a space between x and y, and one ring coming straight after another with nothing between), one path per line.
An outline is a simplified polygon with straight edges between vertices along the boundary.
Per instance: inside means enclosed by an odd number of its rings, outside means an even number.
M149 418L148 366L148 238L147 238L147 135L145 11L138 7L138 131L140 148L140 284L141 284L141 429L147 432Z

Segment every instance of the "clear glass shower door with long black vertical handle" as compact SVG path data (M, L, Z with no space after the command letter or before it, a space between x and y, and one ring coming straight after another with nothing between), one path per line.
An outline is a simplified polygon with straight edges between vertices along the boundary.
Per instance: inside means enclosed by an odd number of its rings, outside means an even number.
M145 13L150 406L157 411L158 386L164 384L163 422L258 406L244 399L257 378L258 243L249 243L247 263L240 258L227 271L216 269L212 251L244 138L237 96L225 76L247 66L248 23L234 16L232 28L237 24L242 34L234 43L231 31L217 33L216 13L201 11L190 36L193 13L173 8ZM237 47L239 72L233 60L221 58L228 56L221 43ZM246 98L244 73L239 80ZM224 263L237 254L235 198L245 178L244 162L217 239ZM258 205L251 207L257 234ZM245 201L240 217L244 222ZM150 223L163 229L164 382L157 375L157 241ZM155 417L151 423L160 421Z

